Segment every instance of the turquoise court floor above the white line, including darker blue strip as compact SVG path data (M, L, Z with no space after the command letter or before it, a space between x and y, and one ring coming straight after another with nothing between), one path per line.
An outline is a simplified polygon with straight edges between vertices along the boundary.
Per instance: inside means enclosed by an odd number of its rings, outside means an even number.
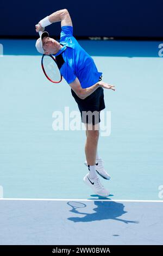
M103 72L103 81L116 86L116 92L104 91L105 130L101 130L103 136L98 145L105 169L111 175L110 181L102 182L112 200L162 199L160 43L81 41L98 70ZM65 108L68 107L69 117L72 111L78 111L70 87L64 80L55 86L43 75L35 40L1 40L1 44L4 50L4 56L0 57L3 197L90 198L92 191L83 182L87 173L85 131L65 127ZM62 114L64 130L53 130L56 111ZM111 121L106 119L107 112ZM106 134L109 127L111 132Z

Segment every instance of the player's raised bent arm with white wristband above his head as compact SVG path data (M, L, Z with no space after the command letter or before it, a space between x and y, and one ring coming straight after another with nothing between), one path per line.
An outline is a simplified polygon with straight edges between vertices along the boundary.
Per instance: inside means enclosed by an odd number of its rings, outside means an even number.
M55 23L55 22L61 22L61 27L62 26L71 26L72 27L72 20L70 17L70 14L68 13L67 9L62 9L59 11L55 11L55 13L52 13L51 15L47 16L45 19L47 19L46 22L49 21L50 25L51 23ZM45 20L43 19L43 20ZM43 24L43 20L41 20L38 25L36 26L36 32L39 32L42 30L42 24Z

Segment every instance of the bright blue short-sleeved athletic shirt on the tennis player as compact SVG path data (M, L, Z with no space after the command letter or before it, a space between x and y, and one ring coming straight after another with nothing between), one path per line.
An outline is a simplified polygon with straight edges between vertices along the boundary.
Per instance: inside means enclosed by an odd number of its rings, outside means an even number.
M60 73L67 83L72 83L76 77L82 86L87 88L99 81L102 72L98 72L91 56L79 45L73 36L73 27L62 26L60 44L66 46L62 52L65 63L61 66Z

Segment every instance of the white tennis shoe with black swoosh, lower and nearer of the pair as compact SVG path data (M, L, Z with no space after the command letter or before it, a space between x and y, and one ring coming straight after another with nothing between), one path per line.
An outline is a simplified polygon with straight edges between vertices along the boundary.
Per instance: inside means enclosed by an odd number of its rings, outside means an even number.
M101 196L101 197L109 196L109 194L110 194L109 191L104 188L104 186L101 184L98 177L95 179L90 179L89 173L87 173L83 180L88 186L90 186L92 188L92 190L96 194L98 194L98 196Z

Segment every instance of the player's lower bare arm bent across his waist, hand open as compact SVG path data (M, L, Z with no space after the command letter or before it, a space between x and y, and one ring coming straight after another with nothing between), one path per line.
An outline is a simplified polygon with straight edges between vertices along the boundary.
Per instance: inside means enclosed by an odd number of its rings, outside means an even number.
M77 96L82 100L84 100L87 96L89 96L93 92L95 92L95 90L98 87L103 87L105 89L112 89L112 90L115 91L115 86L113 86L112 84L104 83L102 81L99 81L99 82L93 84L93 86L90 86L90 87L87 87L87 88L83 89L79 80L78 80L78 78L76 78L76 80L74 80L69 85L72 88L72 90L77 94Z

